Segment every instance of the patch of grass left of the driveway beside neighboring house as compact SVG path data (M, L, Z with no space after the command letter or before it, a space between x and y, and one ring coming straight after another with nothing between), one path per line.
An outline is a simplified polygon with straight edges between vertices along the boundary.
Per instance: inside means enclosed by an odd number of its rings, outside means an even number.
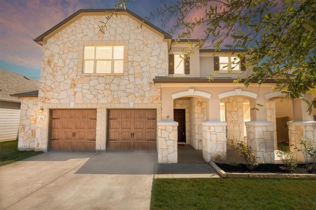
M43 153L41 151L19 151L18 140L0 142L0 166Z

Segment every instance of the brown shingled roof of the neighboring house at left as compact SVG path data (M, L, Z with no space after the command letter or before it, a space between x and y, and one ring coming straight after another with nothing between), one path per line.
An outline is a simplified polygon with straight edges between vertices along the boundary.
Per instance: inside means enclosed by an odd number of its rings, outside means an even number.
M0 101L20 102L18 92L39 90L40 81L0 68Z

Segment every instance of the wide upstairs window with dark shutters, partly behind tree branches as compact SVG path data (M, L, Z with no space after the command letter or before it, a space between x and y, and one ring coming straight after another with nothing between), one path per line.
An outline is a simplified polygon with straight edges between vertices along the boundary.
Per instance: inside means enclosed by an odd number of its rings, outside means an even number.
M244 62L244 58L240 61L238 57L214 57L214 71L245 71Z

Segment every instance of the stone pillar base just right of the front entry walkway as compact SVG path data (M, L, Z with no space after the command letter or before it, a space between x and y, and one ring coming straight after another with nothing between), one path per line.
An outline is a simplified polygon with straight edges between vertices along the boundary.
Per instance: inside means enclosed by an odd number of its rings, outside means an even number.
M206 162L226 160L226 122L204 121L203 127L203 158Z

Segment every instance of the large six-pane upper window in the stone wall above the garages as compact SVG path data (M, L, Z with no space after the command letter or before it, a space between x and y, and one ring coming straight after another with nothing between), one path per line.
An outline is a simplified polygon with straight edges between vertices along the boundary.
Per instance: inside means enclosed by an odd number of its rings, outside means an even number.
M123 46L85 46L83 73L123 73Z

